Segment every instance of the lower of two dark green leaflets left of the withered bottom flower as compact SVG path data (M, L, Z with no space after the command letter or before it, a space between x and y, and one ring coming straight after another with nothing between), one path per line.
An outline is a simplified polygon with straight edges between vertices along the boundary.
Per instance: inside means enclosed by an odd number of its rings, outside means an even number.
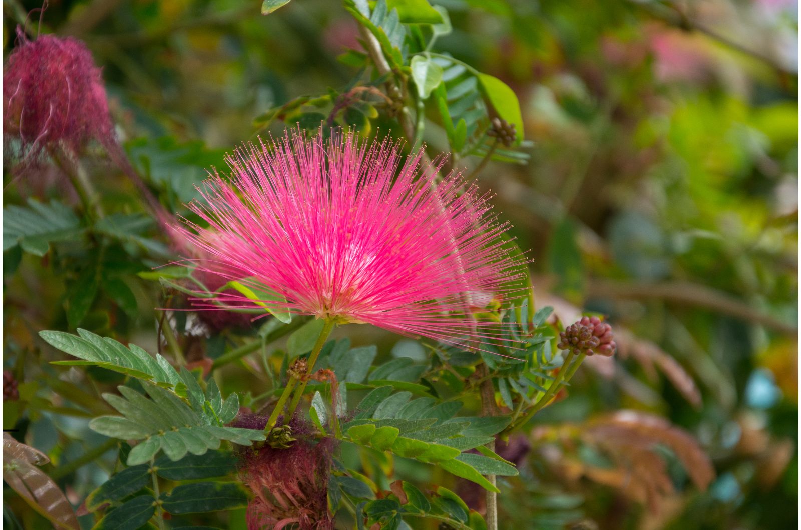
M198 482L183 484L159 500L162 507L174 516L187 513L220 512L248 505L248 490L244 484L233 482Z

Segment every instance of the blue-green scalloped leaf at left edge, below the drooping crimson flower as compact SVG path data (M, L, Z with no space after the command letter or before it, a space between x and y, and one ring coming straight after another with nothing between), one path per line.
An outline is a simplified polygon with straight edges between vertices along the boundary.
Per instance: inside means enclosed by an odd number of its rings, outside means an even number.
M28 207L7 206L2 212L2 250L19 245L28 254L43 256L50 243L74 241L83 234L78 216L61 203L38 203Z

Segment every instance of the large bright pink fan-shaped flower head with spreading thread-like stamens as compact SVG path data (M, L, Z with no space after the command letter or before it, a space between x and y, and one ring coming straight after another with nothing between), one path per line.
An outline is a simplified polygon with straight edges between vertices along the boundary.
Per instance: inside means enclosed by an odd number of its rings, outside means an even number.
M422 156L336 132L250 145L228 157L230 182L213 176L188 205L208 226L175 229L206 256L197 267L272 292L272 309L480 344L502 330L473 319L476 299L513 295L521 263L487 197Z

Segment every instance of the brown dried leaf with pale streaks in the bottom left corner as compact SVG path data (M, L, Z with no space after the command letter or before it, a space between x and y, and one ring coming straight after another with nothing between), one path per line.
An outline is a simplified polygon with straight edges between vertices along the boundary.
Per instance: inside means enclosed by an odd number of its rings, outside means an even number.
M50 459L5 433L2 453L2 478L6 484L56 528L79 530L69 501L49 476L34 467L47 464Z

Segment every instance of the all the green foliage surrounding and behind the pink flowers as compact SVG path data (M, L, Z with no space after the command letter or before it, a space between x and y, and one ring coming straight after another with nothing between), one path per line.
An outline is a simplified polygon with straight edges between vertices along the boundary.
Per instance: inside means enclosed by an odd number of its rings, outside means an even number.
M4 57L37 7L3 2ZM485 528L477 485L495 475L501 528L779 529L798 524L797 9L51 0L25 27L87 44L115 133L171 213L188 215L233 147L321 122L425 142L493 192L531 259L539 311L497 312L524 351L335 331L316 367L340 391L312 381L308 415L340 440L338 528ZM509 145L493 118L515 126ZM94 215L52 164L21 171L14 145L2 322L18 399L4 387L3 428L50 459L39 469L81 528L152 525L155 500L168 528L246 528L228 442L264 435L226 425L280 393L322 324L163 311L205 286L162 267L175 250L103 148L81 156ZM538 407L558 387L558 327L582 313L608 317L618 353ZM484 366L497 418L483 417ZM482 447L498 433L508 449ZM50 528L6 484L3 499L10 528Z

